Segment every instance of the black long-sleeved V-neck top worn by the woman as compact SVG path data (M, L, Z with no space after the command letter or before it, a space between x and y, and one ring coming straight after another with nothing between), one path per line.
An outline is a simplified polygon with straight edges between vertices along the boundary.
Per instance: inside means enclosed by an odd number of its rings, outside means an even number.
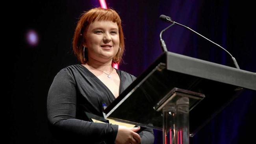
M116 69L120 78L119 94L136 78ZM48 92L47 114L52 133L62 143L113 144L118 125L89 122L85 112L102 116L102 103L115 100L113 93L82 65L63 68L55 76ZM153 144L152 129L139 133L141 144Z

